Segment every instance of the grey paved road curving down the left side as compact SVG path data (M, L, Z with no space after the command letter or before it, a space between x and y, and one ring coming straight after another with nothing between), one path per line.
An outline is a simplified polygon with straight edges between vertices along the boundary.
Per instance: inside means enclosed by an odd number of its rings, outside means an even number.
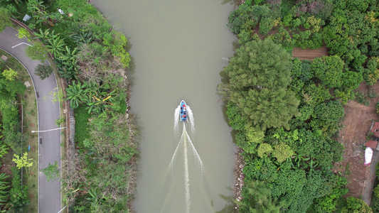
M3 32L0 32L0 48L17 58L31 75L36 92L39 94L37 98L38 105L38 130L56 129L54 121L60 116L59 103L51 101L53 95L48 94L57 87L55 77L50 75L45 80L41 80L34 75L34 68L41 64L37 60L31 60L26 57L25 49L27 45L18 45L16 48L11 48L18 43L26 40L18 39L18 32L14 28L7 27ZM46 99L43 97L46 96ZM39 170L46 168L48 163L53 164L58 161L60 167L60 131L48 131L38 133L39 138L42 138L42 144L39 145ZM60 181L48 182L43 173L39 173L38 184L38 212L40 213L55 213L60 211Z

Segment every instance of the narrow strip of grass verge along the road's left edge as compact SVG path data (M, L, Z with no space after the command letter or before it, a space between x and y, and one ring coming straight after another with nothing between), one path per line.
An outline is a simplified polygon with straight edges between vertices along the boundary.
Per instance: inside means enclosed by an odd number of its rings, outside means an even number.
M23 144L23 153L28 152L28 158L33 159L31 168L28 168L28 170L23 169L23 185L28 186L28 195L31 201L28 212L38 212L38 136L37 133L31 133L32 130L38 129L36 93L34 92L31 77L25 67L16 58L3 50L0 50L0 55L5 55L8 58L6 65L18 71L18 77L23 82L29 82L30 84L26 92L19 96L23 103L23 136L27 138L26 143ZM28 146L30 146L30 150L28 150Z

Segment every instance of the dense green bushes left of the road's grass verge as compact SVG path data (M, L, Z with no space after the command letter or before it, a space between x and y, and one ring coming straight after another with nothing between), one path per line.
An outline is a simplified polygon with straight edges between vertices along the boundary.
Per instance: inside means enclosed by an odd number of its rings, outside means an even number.
M19 106L23 104L19 96L26 91L26 86L18 77L18 70L13 70L6 65L9 65L9 62L0 59L1 164L9 163L5 159L6 155L10 155L9 152L17 156L21 154L22 143L27 137L21 133L19 110ZM4 168L7 167L4 166ZM13 175L7 175L4 170L0 173L0 212L25 212L29 205L28 187L21 185L21 171L16 167L12 167L11 170Z

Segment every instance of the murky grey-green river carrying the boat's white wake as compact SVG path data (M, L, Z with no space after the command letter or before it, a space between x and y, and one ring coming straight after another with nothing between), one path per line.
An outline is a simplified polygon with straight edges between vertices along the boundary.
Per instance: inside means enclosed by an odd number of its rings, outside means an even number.
M234 53L235 37L225 27L232 2L92 3L132 43L130 107L142 137L134 209L231 212L235 147L216 87L225 59ZM191 107L195 132L190 123L185 132L182 122L174 131L174 112L182 99Z

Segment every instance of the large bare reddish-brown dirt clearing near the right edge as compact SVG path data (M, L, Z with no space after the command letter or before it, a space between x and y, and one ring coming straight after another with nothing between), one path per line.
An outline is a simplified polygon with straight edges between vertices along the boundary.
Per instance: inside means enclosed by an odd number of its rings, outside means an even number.
M359 91L368 93L368 87L363 82L358 88ZM379 84L375 84L373 90L379 94ZM363 192L363 183L365 180L366 166L364 163L364 146L367 141L366 136L370 131L373 120L379 120L376 113L375 104L379 101L379 97L370 100L370 105L365 106L355 101L349 101L345 108L345 118L343 120L343 128L339 133L338 141L343 143L345 151L343 153L343 161L336 163L335 171L345 173L346 168L351 172L348 175L348 194L361 198Z

